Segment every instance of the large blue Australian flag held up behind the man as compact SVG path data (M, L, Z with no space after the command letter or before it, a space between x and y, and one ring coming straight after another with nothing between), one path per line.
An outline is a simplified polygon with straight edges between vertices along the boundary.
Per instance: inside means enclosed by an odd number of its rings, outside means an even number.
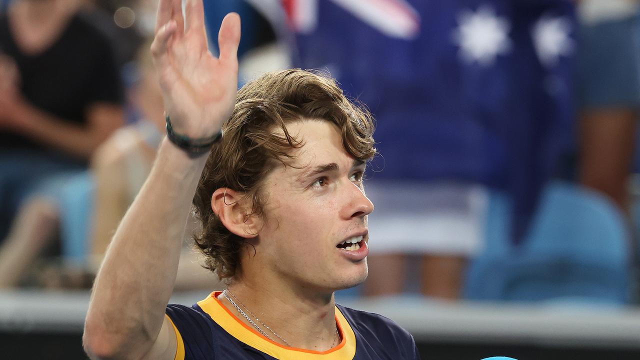
M569 0L284 0L295 62L377 120L373 179L480 183L522 238L573 146Z

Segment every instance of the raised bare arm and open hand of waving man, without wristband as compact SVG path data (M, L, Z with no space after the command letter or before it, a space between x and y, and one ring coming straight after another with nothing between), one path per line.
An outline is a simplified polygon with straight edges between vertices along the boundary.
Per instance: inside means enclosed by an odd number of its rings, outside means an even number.
M186 21L185 21L186 20ZM191 138L220 131L236 103L240 19L220 26L220 57L207 49L202 0L159 2L154 56L173 129ZM92 359L173 359L164 312L173 291L184 227L207 156L189 158L166 138L154 167L116 230L93 286L83 345Z

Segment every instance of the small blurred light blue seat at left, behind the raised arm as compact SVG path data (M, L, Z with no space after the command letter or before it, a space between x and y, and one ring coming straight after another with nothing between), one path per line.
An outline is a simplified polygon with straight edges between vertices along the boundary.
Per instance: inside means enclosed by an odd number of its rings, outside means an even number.
M59 199L62 256L71 265L87 261L94 188L90 172L81 172L68 179Z

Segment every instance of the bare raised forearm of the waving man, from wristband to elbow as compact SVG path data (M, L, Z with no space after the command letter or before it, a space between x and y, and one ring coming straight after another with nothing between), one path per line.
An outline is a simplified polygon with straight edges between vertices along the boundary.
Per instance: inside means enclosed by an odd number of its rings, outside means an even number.
M93 287L85 338L99 339L100 344L91 346L94 351L122 352L136 359L155 340L205 161L206 156L189 159L164 139L147 182L116 230Z

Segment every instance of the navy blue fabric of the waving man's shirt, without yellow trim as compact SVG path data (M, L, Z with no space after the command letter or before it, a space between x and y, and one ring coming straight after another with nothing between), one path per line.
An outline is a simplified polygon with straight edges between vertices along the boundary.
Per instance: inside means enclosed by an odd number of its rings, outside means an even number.
M356 336L353 360L419 360L413 336L384 316L337 305ZM197 304L188 307L170 304L166 314L182 335L185 360L269 359L233 338ZM328 359L332 357L327 355Z

